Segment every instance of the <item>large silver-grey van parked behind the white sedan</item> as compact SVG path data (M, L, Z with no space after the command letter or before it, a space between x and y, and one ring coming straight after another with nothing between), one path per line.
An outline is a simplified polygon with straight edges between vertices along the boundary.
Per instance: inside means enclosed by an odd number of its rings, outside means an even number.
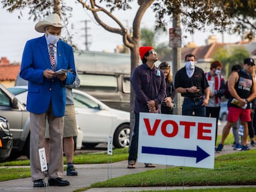
M130 54L75 51L78 90L111 108L130 112Z

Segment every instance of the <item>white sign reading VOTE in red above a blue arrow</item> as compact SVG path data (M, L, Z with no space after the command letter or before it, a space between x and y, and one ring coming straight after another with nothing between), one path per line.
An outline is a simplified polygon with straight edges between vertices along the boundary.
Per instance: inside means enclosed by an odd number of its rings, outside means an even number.
M140 113L138 162L214 168L216 119Z

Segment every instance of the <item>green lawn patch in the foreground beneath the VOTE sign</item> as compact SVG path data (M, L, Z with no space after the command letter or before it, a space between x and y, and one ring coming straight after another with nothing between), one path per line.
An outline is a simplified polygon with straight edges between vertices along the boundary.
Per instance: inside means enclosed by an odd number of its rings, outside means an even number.
M236 152L215 157L215 169L169 167L168 169L147 170L142 173L111 178L105 182L93 183L91 187L183 186L183 184L184 186L256 185L255 156L256 150ZM256 191L256 188L246 188L241 191Z

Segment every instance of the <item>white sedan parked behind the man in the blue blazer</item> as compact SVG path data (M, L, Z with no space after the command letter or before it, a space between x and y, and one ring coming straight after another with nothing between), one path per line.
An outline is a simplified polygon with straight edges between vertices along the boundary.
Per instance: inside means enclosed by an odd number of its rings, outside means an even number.
M14 86L9 90L20 102L27 102L27 86ZM23 90L23 91L22 91ZM129 146L130 113L108 107L89 94L73 89L77 124L83 131L83 145L94 147L99 143L107 143L113 136L116 148Z

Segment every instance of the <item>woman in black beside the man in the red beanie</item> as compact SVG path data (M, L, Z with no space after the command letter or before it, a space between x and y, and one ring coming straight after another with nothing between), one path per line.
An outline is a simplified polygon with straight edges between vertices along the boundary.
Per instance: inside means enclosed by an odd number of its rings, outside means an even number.
M173 85L171 67L167 62L161 62L158 68L163 70L166 83L166 98L164 98L164 101L161 104L161 114L173 114L175 106L173 98L176 96L176 90Z

